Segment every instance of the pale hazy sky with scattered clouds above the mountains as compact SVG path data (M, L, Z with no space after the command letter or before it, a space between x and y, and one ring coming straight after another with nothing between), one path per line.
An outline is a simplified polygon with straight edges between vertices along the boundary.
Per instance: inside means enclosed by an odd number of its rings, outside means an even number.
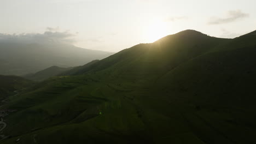
M194 29L235 38L256 30L255 0L0 0L0 42L55 41L118 52Z

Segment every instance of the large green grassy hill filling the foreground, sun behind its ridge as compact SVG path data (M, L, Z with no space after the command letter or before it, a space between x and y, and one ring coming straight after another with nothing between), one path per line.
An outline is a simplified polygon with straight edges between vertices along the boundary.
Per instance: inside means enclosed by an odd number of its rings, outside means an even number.
M10 97L2 143L256 143L256 35L139 44Z

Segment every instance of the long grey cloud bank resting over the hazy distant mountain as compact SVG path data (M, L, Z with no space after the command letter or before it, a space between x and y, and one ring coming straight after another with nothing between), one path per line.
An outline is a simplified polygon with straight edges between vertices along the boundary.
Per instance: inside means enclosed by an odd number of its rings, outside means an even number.
M0 43L61 43L73 44L75 34L68 31L58 32L59 28L46 28L44 33L21 33L21 34L4 34L0 33Z

